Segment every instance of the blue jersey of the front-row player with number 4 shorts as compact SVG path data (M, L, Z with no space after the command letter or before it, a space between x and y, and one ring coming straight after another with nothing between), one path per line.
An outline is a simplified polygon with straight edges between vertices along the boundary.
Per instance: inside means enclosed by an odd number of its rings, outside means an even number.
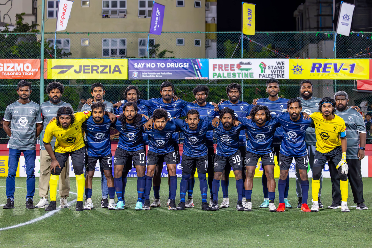
M142 128L143 132L148 134L148 150L160 154L174 152L174 141L172 134L179 131L179 128L171 121L168 121L163 130L154 128L154 123L151 124L151 129Z

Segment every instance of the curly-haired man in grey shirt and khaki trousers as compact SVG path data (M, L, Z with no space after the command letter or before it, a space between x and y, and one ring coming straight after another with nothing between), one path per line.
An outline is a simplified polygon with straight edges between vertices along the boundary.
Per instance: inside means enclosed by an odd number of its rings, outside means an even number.
M64 93L64 86L59 82L52 82L48 84L47 89L45 90L49 96L49 101L40 104L41 112L44 120L44 128L41 133L40 140L40 177L39 177L39 196L41 197L38 204L35 205L36 208L45 208L49 205L48 203L48 192L49 192L49 178L50 178L50 165L51 158L45 150L43 138L45 129L49 121L55 117L57 110L60 107L68 106L71 107L70 103L65 103L61 100L62 94ZM51 141L52 149L54 149L55 137ZM60 174L60 183L59 183L59 194L60 194L60 208L69 207L66 197L70 192L70 170L69 170L70 161L67 158L65 167L62 169Z

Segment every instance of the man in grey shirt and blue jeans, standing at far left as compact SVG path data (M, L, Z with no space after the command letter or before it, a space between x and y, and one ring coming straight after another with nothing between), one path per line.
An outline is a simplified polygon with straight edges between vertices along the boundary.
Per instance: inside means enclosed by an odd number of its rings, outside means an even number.
M26 208L32 209L33 195L35 194L35 159L36 159L36 138L43 129L41 108L37 103L32 102L31 83L20 81L17 84L19 100L6 107L4 113L4 131L9 135L8 142L9 160L8 176L6 178L6 204L4 209L14 207L14 191L16 173L19 157L23 152L25 156L26 169Z

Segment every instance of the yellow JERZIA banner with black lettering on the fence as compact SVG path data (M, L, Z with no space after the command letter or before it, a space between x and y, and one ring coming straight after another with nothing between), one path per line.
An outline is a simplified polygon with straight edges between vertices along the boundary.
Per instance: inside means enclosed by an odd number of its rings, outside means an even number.
M128 59L48 59L48 79L128 79Z

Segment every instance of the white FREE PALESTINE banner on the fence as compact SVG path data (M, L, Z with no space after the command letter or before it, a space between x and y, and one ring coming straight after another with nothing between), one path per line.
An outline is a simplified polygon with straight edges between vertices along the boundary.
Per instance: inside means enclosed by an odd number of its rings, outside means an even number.
M289 59L209 59L209 79L289 79Z

